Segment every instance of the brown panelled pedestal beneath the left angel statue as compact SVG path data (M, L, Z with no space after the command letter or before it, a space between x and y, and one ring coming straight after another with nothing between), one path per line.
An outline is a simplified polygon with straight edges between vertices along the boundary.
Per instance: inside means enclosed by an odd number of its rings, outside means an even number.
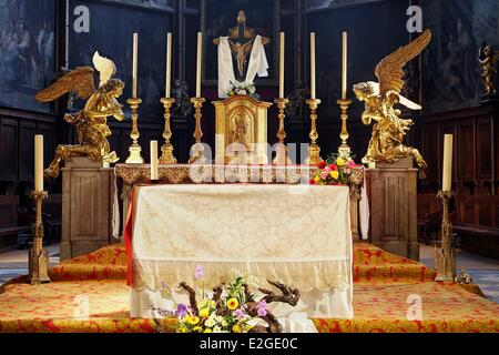
M62 169L61 260L93 252L112 242L114 170L88 158Z

